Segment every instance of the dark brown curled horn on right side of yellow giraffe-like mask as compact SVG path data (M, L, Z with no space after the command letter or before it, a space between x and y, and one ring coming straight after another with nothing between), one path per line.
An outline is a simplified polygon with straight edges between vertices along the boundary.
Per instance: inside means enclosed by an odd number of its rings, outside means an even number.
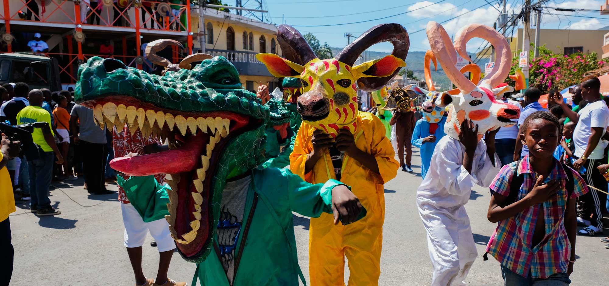
M337 60L353 66L359 55L373 44L390 42L393 44L392 55L406 61L410 47L408 32L400 24L380 24L371 27L336 55ZM391 78L400 72L396 69L389 77L362 77L357 80L357 86L364 90L376 90L387 84Z

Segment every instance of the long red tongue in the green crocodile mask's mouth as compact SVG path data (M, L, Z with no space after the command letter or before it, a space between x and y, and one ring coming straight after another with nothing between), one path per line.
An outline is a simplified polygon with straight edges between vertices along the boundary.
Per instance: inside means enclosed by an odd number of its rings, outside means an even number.
M128 176L150 176L162 173L183 173L195 168L200 161L209 135L203 132L189 136L179 148L149 155L115 158L110 167Z

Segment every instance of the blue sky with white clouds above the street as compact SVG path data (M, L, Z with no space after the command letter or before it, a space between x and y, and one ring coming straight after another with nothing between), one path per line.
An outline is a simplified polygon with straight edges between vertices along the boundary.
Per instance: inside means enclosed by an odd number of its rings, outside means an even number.
M225 0L224 2L229 5L234 5L233 0ZM253 4L253 0L242 0L242 2L245 7L252 7L255 5ZM312 32L320 42L328 42L330 46L334 47L343 47L347 44L347 38L344 37L345 32L350 32L357 37L361 35L362 32L365 32L365 30L368 30L370 27L377 24L398 23L406 27L410 34L410 51L426 51L426 49L429 48L429 43L424 28L428 21L442 22L449 20L446 23L443 23L443 26L449 35L452 35L460 27L466 24L479 23L492 26L499 15L498 10L491 7L491 5L487 4L484 0L263 0L263 2L264 9L269 10L267 15L273 23L281 24L281 17L283 15L286 24L296 27L303 34ZM436 2L438 3L434 4ZM498 0L488 0L488 2L495 4L495 7L499 9ZM521 10L523 2L523 0L507 0L508 13L511 13L512 11L518 13ZM532 0L532 2L537 2L537 0ZM599 9L600 5L604 4L604 2L605 1L593 0L555 0L547 2L544 7ZM385 10L378 11L381 9ZM412 12L365 23L343 24L382 18L407 11ZM541 22L542 29L599 29L600 27L609 25L609 15L600 15L597 11L557 12L547 8L543 11L545 13L554 13L554 15L543 14ZM359 14L340 16L353 13ZM465 14L459 16L463 13ZM592 16L603 19L582 18L577 16ZM326 24L340 25L305 27L307 25ZM417 30L421 30L421 32L415 32ZM511 28L509 32L510 31ZM351 40L353 40L353 38L351 38ZM601 44L600 40L598 41L599 44ZM467 45L468 51L476 51L481 44L482 40L471 40ZM377 44L371 47L370 50L391 51L392 46L389 43Z

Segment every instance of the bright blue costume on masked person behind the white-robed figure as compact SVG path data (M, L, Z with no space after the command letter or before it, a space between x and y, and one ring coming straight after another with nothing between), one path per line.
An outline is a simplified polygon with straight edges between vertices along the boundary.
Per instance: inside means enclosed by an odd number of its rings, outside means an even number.
M429 123L424 118L417 120L415 125L415 131L412 132L412 140L410 142L414 147L420 149L421 152L421 178L425 178L429 164L431 164L431 155L434 154L435 144L442 139L446 134L444 133L444 124L446 123L446 117L442 116L442 119L438 123ZM431 133L432 124L437 125L434 133ZM435 142L423 142L423 138L429 135L435 136Z

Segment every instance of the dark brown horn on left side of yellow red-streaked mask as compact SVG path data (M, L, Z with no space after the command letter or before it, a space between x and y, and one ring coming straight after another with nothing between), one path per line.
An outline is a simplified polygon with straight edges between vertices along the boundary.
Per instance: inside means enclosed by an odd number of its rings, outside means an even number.
M281 53L286 60L305 65L317 58L309 43L298 30L289 25L280 25L277 29L277 41L281 47Z

